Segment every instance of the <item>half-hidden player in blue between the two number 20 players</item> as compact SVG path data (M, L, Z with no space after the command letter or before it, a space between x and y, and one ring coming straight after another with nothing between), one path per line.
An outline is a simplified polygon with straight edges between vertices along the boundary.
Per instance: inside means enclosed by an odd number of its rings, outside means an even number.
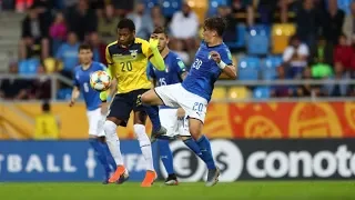
M182 82L187 74L186 68L179 56L169 50L169 38L164 28L155 28L153 34L158 36L158 49L165 62L164 71L159 71L151 63L149 64L148 74L151 80L153 80L154 87ZM159 109L159 116L162 126L166 128L166 134L158 136L160 158L168 173L165 184L175 186L178 184L178 178L173 168L172 151L169 147L170 139L181 138L183 142L205 163L209 164L211 160L204 159L197 143L191 138L189 122L185 117L185 111L182 108L161 106Z

